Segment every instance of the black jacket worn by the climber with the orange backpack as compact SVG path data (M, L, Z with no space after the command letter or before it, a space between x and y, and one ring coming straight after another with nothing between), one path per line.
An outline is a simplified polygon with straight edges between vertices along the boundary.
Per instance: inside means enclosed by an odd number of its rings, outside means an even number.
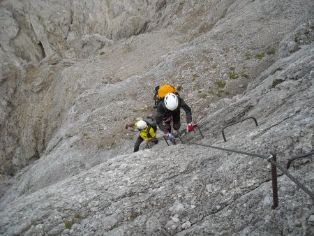
M163 117L168 116L168 115L173 115L176 112L180 113L180 108L182 108L184 112L186 112L186 123L192 122L192 111L190 107L184 102L182 98L179 97L178 100L179 100L179 105L176 110L167 110L163 100L161 100L157 105L156 124L158 125L160 130L163 131L163 133L168 132L165 126L163 125Z

